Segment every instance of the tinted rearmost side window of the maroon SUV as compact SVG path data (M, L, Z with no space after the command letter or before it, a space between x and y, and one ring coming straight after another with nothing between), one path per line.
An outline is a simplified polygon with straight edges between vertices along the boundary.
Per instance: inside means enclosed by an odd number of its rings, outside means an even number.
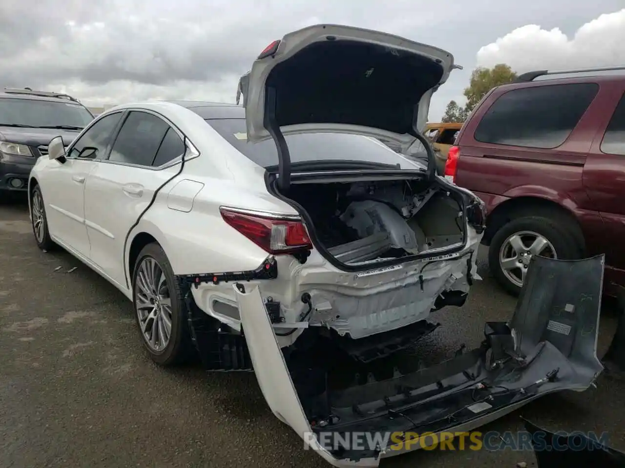
M596 83L510 90L482 116L474 138L497 145L557 148L569 137L598 91Z

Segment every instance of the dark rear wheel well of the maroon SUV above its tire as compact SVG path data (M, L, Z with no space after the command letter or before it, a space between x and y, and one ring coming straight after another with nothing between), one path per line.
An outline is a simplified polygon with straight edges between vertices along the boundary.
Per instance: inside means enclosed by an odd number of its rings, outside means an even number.
M482 243L489 246L492 237L504 224L522 216L541 216L552 219L556 224L566 223L573 228L571 235L579 247L586 250L584 234L575 215L556 202L538 197L511 198L497 205L486 218L486 232Z

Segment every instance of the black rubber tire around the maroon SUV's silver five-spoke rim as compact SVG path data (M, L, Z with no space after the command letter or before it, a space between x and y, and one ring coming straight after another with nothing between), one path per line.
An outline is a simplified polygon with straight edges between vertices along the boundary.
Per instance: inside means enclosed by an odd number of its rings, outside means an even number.
M555 216L554 216L555 217ZM499 285L507 291L507 293L518 296L521 293L522 285L522 270L527 271L527 264L529 263L530 256L527 253L522 253L516 256L516 260L519 265L523 263L525 266L519 266L514 270L506 270L502 266L500 258L504 260L509 258L510 261L515 259L511 258L515 249L512 248L512 244L516 242L512 241L512 236L517 236L523 240L524 246L529 246L532 243L532 236L534 234L542 236L547 241L547 245L544 250L541 251L542 256L552 256L553 258L559 258L560 260L576 260L583 255L583 246L579 245L577 237L574 235L576 232L576 226L568 220L562 220L557 217L557 224L554 223L554 218L544 216L520 216L512 219L504 224L499 230L492 236L491 245L488 250L488 265L492 275ZM535 236L533 236L535 238ZM527 250L525 250L527 252ZM512 253L512 255L511 255ZM551 255L549 255L551 254ZM535 253L532 253L535 255ZM512 263L510 263L511 265ZM519 274L521 272L521 274ZM514 282L512 277L516 277L517 280L521 280L519 285Z

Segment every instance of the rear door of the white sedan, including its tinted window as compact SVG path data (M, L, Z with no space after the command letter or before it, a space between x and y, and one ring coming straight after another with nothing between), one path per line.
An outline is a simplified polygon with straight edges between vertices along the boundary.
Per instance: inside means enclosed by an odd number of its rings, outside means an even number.
M159 187L179 171L184 143L178 130L147 110L131 110L109 157L89 175L84 209L90 259L128 288L124 245L129 231L152 203Z

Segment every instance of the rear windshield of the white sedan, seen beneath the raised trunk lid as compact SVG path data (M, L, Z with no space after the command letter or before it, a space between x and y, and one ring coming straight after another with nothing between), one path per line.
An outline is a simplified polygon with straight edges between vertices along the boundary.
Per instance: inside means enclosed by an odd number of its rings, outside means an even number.
M256 164L268 168L277 165L276 144L273 140L248 143L245 119L207 119L209 125L229 144ZM350 134L287 135L291 162L349 160L375 162L415 170L424 168L418 162L401 157L394 150L371 137ZM424 160L427 164L427 157ZM415 167L417 164L417 167Z

